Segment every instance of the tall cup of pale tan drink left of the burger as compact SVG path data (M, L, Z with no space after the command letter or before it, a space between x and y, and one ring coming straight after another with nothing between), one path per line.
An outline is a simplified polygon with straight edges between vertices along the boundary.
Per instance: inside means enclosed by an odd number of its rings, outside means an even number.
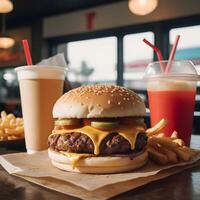
M54 127L52 108L63 94L65 68L33 65L15 70L19 80L27 152L47 149L47 138Z

